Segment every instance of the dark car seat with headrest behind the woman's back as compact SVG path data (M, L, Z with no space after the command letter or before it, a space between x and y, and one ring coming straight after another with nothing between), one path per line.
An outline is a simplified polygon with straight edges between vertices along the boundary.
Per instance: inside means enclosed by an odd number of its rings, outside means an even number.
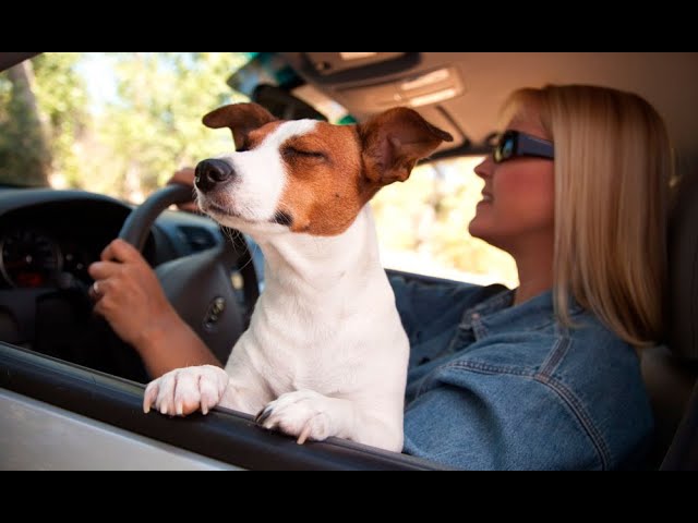
M667 247L667 345L648 349L641 355L655 425L648 466L697 469L698 175L678 184L670 215Z

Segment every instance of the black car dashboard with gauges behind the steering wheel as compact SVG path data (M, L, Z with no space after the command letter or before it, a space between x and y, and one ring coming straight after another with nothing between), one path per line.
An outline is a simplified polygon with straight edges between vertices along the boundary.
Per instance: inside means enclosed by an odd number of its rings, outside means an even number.
M89 264L118 236L131 209L84 191L0 188L0 341L97 369L136 366L105 361L110 352L122 360L129 352L122 349L99 351L95 360L95 344L119 340L95 317L87 295ZM156 267L221 242L208 218L166 211L143 256Z

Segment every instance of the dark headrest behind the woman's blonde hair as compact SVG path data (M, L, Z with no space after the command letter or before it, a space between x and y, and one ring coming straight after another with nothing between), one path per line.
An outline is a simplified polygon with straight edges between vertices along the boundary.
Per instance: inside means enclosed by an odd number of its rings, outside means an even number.
M677 186L667 247L670 348L676 356L698 360L698 175Z

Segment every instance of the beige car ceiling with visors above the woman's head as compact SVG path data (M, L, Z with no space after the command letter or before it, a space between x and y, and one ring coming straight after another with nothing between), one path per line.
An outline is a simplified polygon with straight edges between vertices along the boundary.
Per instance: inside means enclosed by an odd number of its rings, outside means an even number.
M400 86L429 72L449 70L449 88L456 96L416 109L454 135L455 143L444 148L456 147L461 153L485 150L488 138L500 124L503 101L518 87L578 83L634 92L664 117L678 150L679 167L698 168L696 52L282 54L306 82L339 101L359 120L390 106L409 105L410 97L399 95ZM352 60L342 59L342 54ZM434 89L444 90L436 80ZM390 99L387 95L392 90ZM424 90L416 93L422 96Z

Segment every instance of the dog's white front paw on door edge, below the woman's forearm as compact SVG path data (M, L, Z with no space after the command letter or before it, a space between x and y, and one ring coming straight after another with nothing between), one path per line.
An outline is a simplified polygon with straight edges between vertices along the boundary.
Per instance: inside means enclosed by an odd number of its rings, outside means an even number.
M221 400L229 377L214 365L177 368L148 384L143 412L154 406L163 414L185 416L198 410L206 414Z

